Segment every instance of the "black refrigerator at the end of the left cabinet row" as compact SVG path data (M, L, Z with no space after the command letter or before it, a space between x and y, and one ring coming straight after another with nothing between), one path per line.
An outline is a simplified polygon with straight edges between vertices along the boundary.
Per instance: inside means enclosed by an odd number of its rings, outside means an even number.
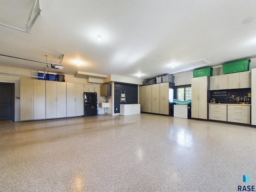
M97 93L84 92L84 116L97 115Z

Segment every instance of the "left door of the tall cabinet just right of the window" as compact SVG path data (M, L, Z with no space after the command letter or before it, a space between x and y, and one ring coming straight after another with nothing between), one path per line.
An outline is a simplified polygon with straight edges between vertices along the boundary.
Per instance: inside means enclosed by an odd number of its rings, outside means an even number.
M198 78L191 79L191 117L198 118L199 114L199 87L198 87Z

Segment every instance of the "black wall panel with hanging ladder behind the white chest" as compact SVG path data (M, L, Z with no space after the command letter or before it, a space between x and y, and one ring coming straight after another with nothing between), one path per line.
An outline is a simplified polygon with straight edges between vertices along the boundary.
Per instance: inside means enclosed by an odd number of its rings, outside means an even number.
M125 91L126 102L121 102L121 91ZM120 104L138 104L138 85L116 83L114 84L115 92L115 113L120 112ZM117 109L117 110L116 110Z

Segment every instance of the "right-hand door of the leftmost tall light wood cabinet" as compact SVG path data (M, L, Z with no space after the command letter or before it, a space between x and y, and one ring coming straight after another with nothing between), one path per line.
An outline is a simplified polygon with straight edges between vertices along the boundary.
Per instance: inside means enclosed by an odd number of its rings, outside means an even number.
M34 80L34 119L45 119L45 110L45 81Z

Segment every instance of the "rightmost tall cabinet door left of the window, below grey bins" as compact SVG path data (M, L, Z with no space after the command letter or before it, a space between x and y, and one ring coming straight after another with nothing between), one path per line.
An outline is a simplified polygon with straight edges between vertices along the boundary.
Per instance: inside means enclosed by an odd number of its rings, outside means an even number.
M169 115L169 82L160 83L160 114Z

